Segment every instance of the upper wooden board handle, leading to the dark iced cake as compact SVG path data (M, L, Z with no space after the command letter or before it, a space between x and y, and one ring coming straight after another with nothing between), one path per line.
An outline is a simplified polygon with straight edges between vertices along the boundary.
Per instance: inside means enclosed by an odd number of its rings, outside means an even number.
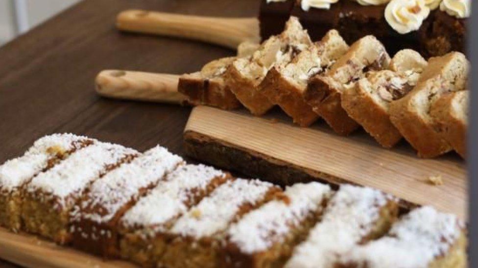
M259 42L256 18L214 18L125 10L118 14L119 30L205 41L236 49L243 41Z

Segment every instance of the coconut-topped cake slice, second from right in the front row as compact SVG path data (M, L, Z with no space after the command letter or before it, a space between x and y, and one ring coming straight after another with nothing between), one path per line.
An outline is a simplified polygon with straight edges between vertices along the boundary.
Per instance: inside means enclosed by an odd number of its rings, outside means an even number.
M372 188L341 185L322 221L295 247L285 267L334 267L338 257L358 243L386 233L397 213L393 197Z

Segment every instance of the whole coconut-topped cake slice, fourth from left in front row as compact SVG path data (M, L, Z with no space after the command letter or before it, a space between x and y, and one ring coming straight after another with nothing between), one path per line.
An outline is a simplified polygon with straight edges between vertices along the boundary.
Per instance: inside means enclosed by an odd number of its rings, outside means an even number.
M121 257L143 267L155 267L166 250L167 230L175 220L231 180L229 173L205 165L182 165L169 173L119 221Z

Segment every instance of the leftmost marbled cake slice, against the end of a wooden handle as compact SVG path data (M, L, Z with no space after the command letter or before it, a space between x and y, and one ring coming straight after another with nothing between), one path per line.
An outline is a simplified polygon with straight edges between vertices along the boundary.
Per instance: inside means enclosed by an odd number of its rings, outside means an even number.
M191 105L210 105L226 110L238 108L239 101L224 82L226 68L234 60L236 57L215 60L204 65L200 72L182 75L178 91Z

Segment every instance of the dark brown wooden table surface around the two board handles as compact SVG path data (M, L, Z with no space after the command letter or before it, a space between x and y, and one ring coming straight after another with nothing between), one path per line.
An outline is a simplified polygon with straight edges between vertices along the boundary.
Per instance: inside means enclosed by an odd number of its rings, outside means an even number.
M198 41L120 33L129 8L204 16L255 16L258 0L84 0L0 47L0 163L37 138L72 132L145 150L184 154L191 108L95 94L103 69L182 74L235 52ZM0 267L14 265L0 260Z

